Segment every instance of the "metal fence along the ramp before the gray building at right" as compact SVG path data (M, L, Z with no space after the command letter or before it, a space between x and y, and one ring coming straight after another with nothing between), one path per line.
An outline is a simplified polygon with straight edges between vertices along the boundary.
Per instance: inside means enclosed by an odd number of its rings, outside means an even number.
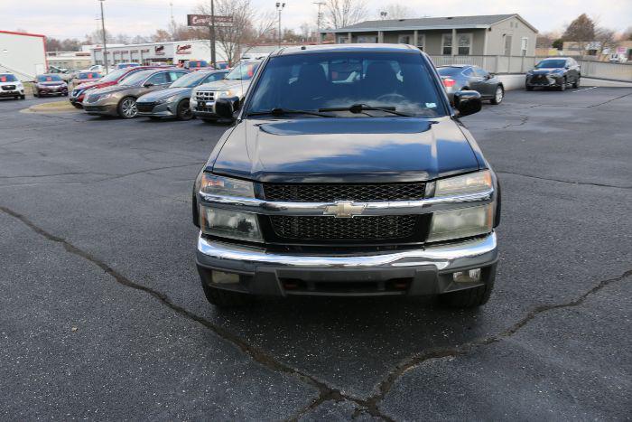
M436 66L474 64L492 73L525 73L544 59L535 56L430 56ZM581 75L604 80L632 82L632 63L606 61L578 61Z

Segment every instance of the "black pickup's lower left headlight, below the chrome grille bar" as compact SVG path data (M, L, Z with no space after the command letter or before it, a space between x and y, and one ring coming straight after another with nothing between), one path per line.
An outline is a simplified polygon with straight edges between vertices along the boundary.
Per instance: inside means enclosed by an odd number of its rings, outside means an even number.
M229 239L263 241L256 214L200 205L200 229L203 233Z

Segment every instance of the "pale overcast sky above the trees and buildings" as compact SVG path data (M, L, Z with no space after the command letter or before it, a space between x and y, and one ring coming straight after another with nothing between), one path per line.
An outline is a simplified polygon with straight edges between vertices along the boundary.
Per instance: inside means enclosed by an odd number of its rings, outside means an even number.
M6 7L6 2L11 4ZM186 14L200 0L106 0L106 27L111 33L149 35L166 27L170 19L170 1L176 22L185 23ZM208 3L209 0L202 0ZM251 0L259 11L274 10L275 0ZM285 0L283 27L298 29L301 23L316 21L316 0ZM401 0L399 0L401 1ZM0 0L0 29L23 29L55 38L83 39L98 28L97 0ZM367 0L369 18L376 18L379 5L390 0ZM632 25L632 0L406 0L402 2L418 16L457 16L470 14L521 14L540 32L561 31L578 14L588 13L617 31Z

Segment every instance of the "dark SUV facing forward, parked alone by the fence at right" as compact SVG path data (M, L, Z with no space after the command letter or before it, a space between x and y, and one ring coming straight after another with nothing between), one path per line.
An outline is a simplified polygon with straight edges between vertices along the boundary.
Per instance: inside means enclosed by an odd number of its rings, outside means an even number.
M580 65L572 57L550 57L526 72L525 89L535 87L556 88L561 91L571 84L579 88L581 80Z

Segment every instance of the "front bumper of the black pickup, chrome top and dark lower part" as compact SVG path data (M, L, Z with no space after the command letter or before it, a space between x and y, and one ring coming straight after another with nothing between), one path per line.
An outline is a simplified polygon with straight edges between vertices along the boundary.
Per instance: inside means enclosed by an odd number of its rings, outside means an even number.
M402 291L376 290L338 295L432 295L480 286L494 277L497 262L496 233L482 239L397 252L348 255L271 253L200 236L196 254L202 282L209 286L256 295L332 295L327 292L290 291L283 280L306 283L382 283L407 280ZM452 273L483 268L478 282L455 283ZM239 282L216 284L213 271L238 274Z

